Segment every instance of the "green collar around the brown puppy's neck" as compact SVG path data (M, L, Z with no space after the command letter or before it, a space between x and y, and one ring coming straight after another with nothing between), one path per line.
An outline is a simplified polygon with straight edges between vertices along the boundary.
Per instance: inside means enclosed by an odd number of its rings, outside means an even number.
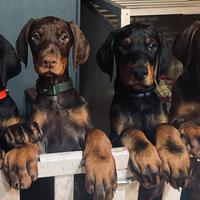
M59 93L65 92L73 88L72 80L69 79L66 82L58 83L47 88L37 88L38 93L48 96L56 96Z

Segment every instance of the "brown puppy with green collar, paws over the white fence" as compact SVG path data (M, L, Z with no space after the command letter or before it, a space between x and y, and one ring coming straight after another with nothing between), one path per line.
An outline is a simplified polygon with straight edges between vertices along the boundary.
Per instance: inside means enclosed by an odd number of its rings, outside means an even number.
M84 150L86 190L94 198L112 199L116 188L112 145L104 132L92 128L87 102L73 88L68 74L70 50L73 48L73 64L76 69L89 56L88 41L74 22L49 16L30 19L18 36L16 49L25 65L28 44L38 73L38 94L27 123L37 124L38 130L34 129L33 135L42 133L42 140L38 145L39 150L34 147L25 152L26 146L23 146L21 151L14 149L9 152L5 168L10 175L11 185L16 189L30 186L30 180L37 176L35 161L38 151L51 153ZM9 130L8 134L15 135L17 132L22 136L23 141L13 139L15 145L24 144L27 140L29 142L29 138L23 138L23 133L28 132L27 123ZM21 154L25 154L24 157L20 161L16 160ZM34 164L26 167L25 163L29 164L30 159Z

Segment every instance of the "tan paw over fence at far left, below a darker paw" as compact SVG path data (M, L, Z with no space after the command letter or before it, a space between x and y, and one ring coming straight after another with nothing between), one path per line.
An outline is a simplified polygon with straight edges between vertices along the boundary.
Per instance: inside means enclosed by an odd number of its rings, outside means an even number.
M38 145L30 143L6 153L3 171L14 189L26 189L37 179L38 153Z

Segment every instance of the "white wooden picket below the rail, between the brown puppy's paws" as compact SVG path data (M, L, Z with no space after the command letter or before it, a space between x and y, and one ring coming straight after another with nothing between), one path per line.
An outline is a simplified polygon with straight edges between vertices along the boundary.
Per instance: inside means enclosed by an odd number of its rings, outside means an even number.
M55 200L73 200L74 197L74 176L56 176L54 185Z

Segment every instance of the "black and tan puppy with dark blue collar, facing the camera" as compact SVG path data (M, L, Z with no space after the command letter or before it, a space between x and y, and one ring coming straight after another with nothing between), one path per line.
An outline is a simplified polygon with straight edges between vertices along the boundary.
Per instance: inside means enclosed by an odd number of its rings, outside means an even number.
M116 79L110 108L114 146L128 148L130 168L145 188L156 191L160 173L173 187L185 186L189 156L155 88L159 76L170 67L169 44L152 26L130 24L111 32L97 52L97 64L110 79L114 58Z

